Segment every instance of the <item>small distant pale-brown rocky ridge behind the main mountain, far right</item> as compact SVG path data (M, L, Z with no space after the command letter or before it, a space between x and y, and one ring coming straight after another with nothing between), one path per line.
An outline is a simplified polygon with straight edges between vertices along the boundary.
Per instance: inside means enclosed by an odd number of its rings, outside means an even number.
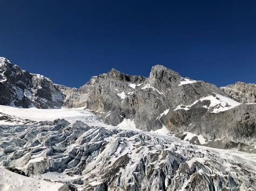
M220 89L240 103L256 103L256 84L254 83L237 82Z

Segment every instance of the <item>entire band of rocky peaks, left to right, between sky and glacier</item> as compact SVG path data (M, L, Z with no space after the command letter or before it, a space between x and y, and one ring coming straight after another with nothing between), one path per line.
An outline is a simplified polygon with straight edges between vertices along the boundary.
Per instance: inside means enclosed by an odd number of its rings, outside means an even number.
M111 69L80 88L53 85L48 78L21 70L4 58L0 68L0 104L86 107L110 125L130 119L144 131L166 127L172 134L186 131L208 140L255 144L256 104L235 102L214 84L181 77L161 65L153 66L149 77ZM238 87L245 95L254 96L250 93L253 84Z

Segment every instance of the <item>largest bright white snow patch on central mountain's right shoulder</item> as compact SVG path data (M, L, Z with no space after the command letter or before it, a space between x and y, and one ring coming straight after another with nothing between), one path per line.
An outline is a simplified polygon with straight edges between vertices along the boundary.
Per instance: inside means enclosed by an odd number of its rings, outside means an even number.
M219 95L216 93L215 96L213 95L209 95L203 98L200 98L200 100L196 100L194 101L194 103L192 103L191 105L178 105L174 111L178 110L178 109L184 109L184 110L190 110L190 108L198 103L198 102L203 102L204 100L208 100L210 101L210 105L203 105L204 108L211 110L212 113L218 113L221 111L226 111L229 109L232 109L234 107L237 107L238 105L240 105L241 103L232 100L229 97L223 96L223 95Z

